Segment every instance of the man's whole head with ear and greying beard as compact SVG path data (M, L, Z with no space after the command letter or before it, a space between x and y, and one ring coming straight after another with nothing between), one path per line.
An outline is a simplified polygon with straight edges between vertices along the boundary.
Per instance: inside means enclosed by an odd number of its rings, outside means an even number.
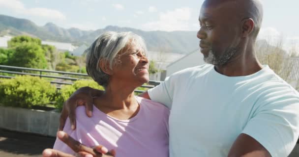
M197 32L205 61L225 66L244 53L254 55L262 19L259 0L205 0Z

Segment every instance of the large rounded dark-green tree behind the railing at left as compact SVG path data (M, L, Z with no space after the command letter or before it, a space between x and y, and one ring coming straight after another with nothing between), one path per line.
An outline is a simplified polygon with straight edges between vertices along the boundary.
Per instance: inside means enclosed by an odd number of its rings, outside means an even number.
M15 52L8 59L8 64L12 66L27 68L47 68L45 51L36 43L21 43L14 48Z

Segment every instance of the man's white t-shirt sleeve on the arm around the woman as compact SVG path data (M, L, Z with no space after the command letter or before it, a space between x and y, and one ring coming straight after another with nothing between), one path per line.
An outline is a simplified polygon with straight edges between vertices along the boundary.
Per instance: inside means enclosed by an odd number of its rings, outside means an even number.
M154 88L149 89L148 93L150 100L161 103L171 109L174 94L172 78L165 78L164 82L160 83Z

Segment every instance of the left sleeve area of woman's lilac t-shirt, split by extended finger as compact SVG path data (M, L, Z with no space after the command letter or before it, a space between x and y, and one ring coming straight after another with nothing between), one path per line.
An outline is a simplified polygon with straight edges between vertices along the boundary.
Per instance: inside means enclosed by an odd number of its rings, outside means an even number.
M77 134L76 134L77 129L76 130L71 129L69 118L66 119L63 131L78 141ZM58 137L56 137L56 141L54 143L53 149L59 150L67 154L75 155L75 152L71 148L69 148L65 143L63 143Z

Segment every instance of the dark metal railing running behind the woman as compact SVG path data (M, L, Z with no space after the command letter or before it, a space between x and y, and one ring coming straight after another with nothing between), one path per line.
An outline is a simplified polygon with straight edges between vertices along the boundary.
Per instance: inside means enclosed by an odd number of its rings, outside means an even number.
M37 72L37 73L32 73ZM55 75L49 75L49 74L57 74ZM1 74L11 74L14 76L5 76ZM69 81L57 81L52 80L50 81L52 84L57 84L56 88L60 89L61 84L68 84L71 85L76 80L82 80L82 79L90 79L90 77L87 74L82 73L71 73L71 72L63 72L63 71L54 71L54 70L43 70L43 69L34 69L34 68L24 68L24 67L15 67L15 66L7 66L7 65L0 65L0 78L14 78L16 76L23 76L23 75L30 75L40 78L55 78L55 79L62 79L62 80L69 80ZM72 77L69 77L72 76ZM160 84L160 81L154 81L150 80L149 85L142 85L141 87L145 88L153 88ZM135 90L135 92L142 93L144 91L141 90Z

